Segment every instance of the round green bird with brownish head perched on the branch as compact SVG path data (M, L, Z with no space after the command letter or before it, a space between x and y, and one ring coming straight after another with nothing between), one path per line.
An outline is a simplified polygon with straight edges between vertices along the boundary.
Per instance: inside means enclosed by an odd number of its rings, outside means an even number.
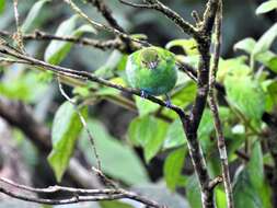
M177 81L177 67L174 54L161 47L147 47L129 55L126 66L127 80L130 86L139 89L141 96L166 96Z

